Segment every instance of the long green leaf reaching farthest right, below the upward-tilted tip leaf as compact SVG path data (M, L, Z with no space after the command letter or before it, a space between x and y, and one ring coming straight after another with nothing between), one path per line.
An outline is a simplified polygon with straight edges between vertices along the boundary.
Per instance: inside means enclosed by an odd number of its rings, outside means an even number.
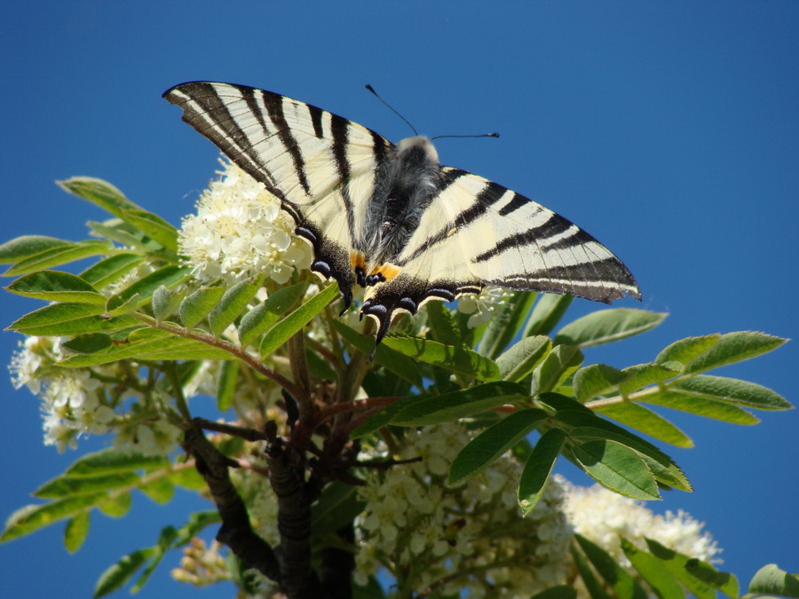
M668 391L683 393L692 398L714 399L734 406L751 407L757 410L789 410L793 407L785 398L771 389L754 382L740 381L724 376L698 374L671 383L668 385Z

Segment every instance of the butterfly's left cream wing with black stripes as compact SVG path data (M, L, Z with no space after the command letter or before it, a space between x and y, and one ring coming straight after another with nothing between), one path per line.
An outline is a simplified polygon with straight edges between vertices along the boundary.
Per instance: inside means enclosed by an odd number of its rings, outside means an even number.
M183 83L164 93L188 122L277 195L312 243L312 269L338 280L349 304L350 254L392 144L359 124L270 91Z

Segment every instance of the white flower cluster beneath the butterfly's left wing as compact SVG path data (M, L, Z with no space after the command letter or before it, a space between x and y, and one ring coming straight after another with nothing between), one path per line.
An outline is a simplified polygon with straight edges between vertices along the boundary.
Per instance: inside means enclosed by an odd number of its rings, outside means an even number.
M285 283L295 269L311 265L312 251L294 235L294 221L280 201L239 167L224 169L183 220L180 252L201 280L232 283L265 273Z

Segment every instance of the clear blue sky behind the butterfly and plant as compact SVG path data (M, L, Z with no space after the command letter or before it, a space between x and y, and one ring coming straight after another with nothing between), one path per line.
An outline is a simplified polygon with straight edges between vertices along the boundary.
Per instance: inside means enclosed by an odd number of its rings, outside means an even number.
M98 1L3 13L2 240L83 239L84 222L104 216L53 185L74 175L106 178L177 224L218 154L161 99L175 83L245 83L407 137L363 90L372 83L426 134L500 131L441 140L442 162L574 220L629 265L645 308L671 313L589 360L629 366L687 335L799 332L799 4ZM3 325L38 305L0 303ZM575 302L570 315L593 307ZM0 335L0 361L16 343ZM796 403L797 363L794 342L720 374ZM77 454L42 445L36 399L2 378L5 517ZM697 446L667 451L695 493L653 506L706 521L742 582L768 562L799 571L799 413L762 416L744 428L677 414ZM181 523L190 501L137 497L123 520L94 518L75 556L61 526L2 545L0 595L89 596L108 564ZM154 584L139 596L163 595Z

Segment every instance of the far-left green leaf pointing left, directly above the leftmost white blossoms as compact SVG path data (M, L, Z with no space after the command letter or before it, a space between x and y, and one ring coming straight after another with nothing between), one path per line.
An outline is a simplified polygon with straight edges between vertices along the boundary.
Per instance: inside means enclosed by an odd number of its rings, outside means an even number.
M9 325L25 335L67 336L116 331L140 324L128 316L105 317L102 306L89 303L51 303Z

